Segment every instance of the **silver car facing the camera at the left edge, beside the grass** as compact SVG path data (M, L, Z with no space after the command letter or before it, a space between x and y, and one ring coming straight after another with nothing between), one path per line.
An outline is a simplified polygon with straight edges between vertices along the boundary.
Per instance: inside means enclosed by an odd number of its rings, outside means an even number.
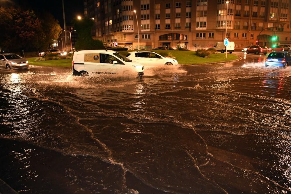
M0 67L6 69L28 69L28 61L17 54L0 54Z

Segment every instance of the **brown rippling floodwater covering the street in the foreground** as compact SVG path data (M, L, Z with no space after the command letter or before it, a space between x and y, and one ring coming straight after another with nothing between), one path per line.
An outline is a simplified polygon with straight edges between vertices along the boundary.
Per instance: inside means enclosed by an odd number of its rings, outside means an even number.
M290 193L291 67L239 56L142 78L0 69L0 179L19 193Z

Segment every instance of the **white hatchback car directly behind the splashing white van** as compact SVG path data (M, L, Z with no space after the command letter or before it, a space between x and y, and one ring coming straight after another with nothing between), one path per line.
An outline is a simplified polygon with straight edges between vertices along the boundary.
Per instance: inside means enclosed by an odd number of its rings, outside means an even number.
M177 60L170 57L163 57L150 51L129 52L126 56L131 60L143 64L145 68L159 67L162 65L178 65Z

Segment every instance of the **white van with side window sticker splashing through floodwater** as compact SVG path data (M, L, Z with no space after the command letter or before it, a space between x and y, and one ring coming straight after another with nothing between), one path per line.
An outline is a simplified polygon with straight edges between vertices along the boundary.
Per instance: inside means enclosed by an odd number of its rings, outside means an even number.
M143 65L129 60L125 56L112 50L82 50L74 52L73 75L88 74L116 74L126 71L143 75Z

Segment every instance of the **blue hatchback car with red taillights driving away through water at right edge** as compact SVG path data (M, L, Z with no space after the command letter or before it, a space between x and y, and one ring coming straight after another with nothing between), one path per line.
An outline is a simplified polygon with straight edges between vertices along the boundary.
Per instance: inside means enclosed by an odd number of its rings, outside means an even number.
M291 52L274 51L270 53L265 62L266 67L269 65L281 67L291 66Z

